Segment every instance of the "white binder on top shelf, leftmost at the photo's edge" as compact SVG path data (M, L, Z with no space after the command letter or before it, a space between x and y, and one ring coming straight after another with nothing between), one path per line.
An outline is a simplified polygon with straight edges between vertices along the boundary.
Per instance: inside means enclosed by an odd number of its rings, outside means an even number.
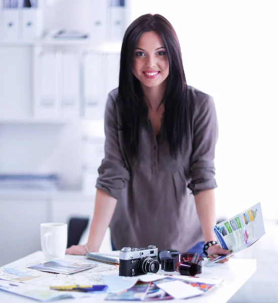
M3 12L3 40L17 40L19 38L19 13L17 9L4 9Z

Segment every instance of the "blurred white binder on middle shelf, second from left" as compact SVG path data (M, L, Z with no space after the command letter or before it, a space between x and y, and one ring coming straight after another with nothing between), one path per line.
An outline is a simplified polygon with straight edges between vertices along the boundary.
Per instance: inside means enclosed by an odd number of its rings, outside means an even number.
M80 76L77 54L62 54L62 117L77 119L80 117Z

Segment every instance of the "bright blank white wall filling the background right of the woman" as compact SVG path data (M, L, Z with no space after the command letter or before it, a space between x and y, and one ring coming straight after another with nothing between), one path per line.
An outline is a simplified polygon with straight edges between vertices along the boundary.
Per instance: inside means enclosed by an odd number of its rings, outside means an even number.
M169 4L170 3L170 4ZM217 212L258 201L278 218L276 1L133 0L131 19L159 13L174 26L188 84L214 96Z

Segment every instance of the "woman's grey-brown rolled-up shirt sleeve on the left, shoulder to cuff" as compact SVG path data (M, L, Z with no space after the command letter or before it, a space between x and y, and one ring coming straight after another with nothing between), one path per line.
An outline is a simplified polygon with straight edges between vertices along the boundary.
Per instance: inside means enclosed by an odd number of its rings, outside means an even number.
M98 170L99 177L96 187L104 190L112 197L120 199L130 175L120 149L115 97L112 96L112 93L113 91L108 95L106 103L104 117L105 157Z

